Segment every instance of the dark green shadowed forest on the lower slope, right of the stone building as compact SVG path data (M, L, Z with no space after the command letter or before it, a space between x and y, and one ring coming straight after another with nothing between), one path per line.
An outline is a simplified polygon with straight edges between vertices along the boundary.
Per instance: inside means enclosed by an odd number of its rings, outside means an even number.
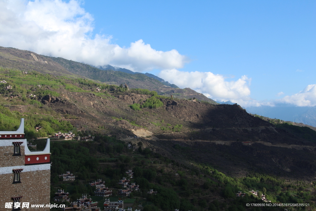
M283 207L246 207L246 203L263 203L250 190L258 190L271 202L309 203L314 208L314 183L289 181L272 175L249 173L246 177L229 177L212 166L201 163L186 165L161 156L149 148L143 149L138 142L137 150L127 148L127 144L113 137L97 135L95 141L54 142L52 143L52 194L63 188L75 200L81 193L89 193L92 198L94 189L88 185L97 179L106 182L113 189L112 199L121 189L118 181L127 177L126 171L132 169L131 180L140 185L139 192L124 200L133 199L138 204L149 204L143 210L284 210ZM175 145L175 149L181 150ZM73 183L59 180L58 174L71 171L76 175ZM154 189L158 193L149 195ZM246 193L236 197L236 193ZM214 197L215 196L215 197ZM99 198L100 199L100 198ZM145 199L145 200L144 200ZM102 206L102 200L99 203ZM133 205L133 206L134 206ZM297 207L304 210L304 207Z

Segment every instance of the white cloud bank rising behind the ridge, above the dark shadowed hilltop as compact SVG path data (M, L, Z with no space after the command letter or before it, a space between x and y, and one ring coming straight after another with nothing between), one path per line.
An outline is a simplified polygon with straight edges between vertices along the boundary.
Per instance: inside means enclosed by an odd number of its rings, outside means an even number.
M248 101L251 78L242 76L236 81L225 81L225 77L212 72L184 72L176 69L163 70L158 76L180 88L190 87L218 101Z

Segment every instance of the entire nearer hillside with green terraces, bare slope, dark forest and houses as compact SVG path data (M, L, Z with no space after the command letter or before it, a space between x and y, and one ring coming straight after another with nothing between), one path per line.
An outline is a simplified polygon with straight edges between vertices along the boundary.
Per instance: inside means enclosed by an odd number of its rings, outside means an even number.
M0 129L15 131L25 118L26 141L8 142L12 151L25 144L38 153L50 139L49 162L19 158L50 165L46 194L63 210L315 208L315 131L308 127L194 95L23 71L0 68ZM23 176L23 168L14 174Z

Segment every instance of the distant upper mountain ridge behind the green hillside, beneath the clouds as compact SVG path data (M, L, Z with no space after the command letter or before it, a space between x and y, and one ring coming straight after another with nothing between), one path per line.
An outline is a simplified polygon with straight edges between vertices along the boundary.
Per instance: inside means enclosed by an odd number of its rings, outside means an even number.
M44 74L65 75L71 78L90 78L108 84L127 84L131 88L155 90L161 95L180 99L197 98L198 100L216 103L212 99L191 89L179 89L166 86L156 78L143 73L129 74L121 71L103 71L91 65L71 61L60 57L39 55L31 51L16 48L0 47L0 66L19 70L34 70ZM127 69L126 69L127 70ZM129 70L127 70L129 71ZM162 80L162 79L161 79ZM164 82L165 83L165 82Z

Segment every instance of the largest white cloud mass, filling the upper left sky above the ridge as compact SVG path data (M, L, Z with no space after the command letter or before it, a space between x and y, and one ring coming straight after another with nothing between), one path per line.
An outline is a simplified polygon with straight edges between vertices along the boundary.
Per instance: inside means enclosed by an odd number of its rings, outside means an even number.
M3 47L132 71L182 68L187 62L177 50L157 51L143 40L120 47L111 43L111 36L92 36L94 19L75 0L0 0L0 8Z

